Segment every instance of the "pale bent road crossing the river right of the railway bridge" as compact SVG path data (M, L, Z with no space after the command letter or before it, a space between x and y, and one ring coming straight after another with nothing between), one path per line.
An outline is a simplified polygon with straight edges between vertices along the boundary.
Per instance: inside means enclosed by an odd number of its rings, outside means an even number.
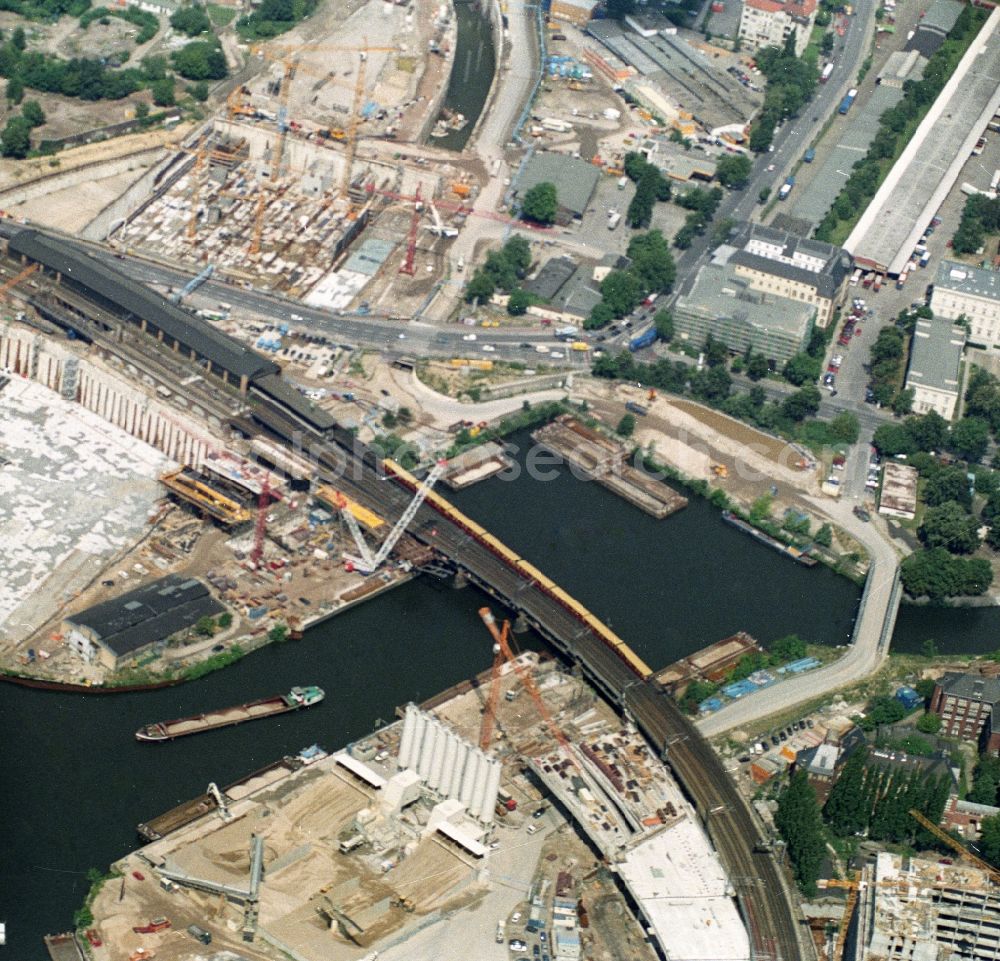
M869 575L866 600L861 616L854 625L851 645L840 660L799 675L773 687L727 704L715 714L698 721L697 726L706 737L715 737L732 728L750 724L779 711L787 711L796 704L820 697L829 691L844 687L875 671L889 653L888 632L882 643L883 626L886 619L895 620L899 605L899 592L894 590L899 570L899 558L895 549L880 533L880 519L871 524L859 521L851 513L851 504L843 500L832 503L829 500L809 498L817 509L829 514L836 522L857 538L874 564Z

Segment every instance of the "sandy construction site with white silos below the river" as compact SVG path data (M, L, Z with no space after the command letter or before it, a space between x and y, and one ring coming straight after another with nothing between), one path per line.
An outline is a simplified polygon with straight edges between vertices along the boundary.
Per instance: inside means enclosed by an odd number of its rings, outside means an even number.
M155 840L116 869L158 884L102 890L107 957L188 958L197 930L245 958L500 959L533 943L652 958L628 904L668 956L707 961L725 942L748 957L717 857L642 737L480 616L490 671L346 750L210 785L142 826Z

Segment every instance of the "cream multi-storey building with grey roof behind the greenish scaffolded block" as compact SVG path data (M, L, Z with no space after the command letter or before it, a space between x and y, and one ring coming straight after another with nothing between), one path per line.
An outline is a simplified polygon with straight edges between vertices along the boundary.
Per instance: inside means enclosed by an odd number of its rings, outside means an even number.
M735 248L729 262L754 290L811 305L818 327L830 323L846 296L851 261L833 244L744 223L733 231L726 246Z

